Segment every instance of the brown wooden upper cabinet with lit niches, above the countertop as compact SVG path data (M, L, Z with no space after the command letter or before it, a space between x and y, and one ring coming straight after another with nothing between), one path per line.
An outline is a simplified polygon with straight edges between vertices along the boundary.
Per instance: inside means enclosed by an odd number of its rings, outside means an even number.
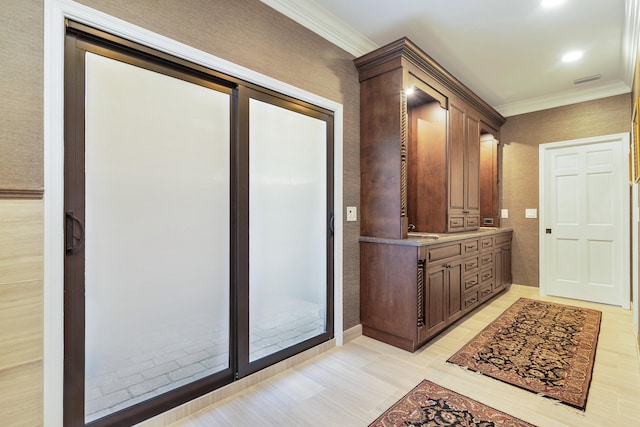
M481 141L494 144L505 118L407 38L355 65L361 234L403 239L410 228L497 225L497 148L487 164L489 146Z

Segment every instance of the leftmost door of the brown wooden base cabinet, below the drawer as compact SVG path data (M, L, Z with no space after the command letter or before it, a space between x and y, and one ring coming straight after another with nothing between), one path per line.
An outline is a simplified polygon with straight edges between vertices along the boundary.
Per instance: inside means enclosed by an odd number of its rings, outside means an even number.
M427 270L424 289L424 317L425 327L427 328L426 336L428 337L444 329L447 324L448 275L446 264L439 264Z

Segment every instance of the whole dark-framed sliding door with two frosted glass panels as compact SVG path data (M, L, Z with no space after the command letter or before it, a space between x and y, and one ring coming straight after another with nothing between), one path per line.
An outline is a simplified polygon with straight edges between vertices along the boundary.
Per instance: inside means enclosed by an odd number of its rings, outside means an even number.
M331 339L331 113L80 24L65 49L65 425Z

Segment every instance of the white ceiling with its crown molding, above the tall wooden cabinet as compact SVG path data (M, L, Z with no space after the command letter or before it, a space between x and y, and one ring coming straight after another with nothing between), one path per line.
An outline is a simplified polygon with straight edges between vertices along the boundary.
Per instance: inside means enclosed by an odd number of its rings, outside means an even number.
M262 1L356 57L407 36L504 116L631 91L640 0Z

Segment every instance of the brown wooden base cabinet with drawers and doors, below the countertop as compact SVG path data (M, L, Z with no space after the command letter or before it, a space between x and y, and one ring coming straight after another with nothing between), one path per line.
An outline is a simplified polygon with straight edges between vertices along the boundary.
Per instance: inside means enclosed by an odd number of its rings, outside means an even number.
M512 232L486 233L446 243L361 238L363 334L415 351L504 291L511 284Z

